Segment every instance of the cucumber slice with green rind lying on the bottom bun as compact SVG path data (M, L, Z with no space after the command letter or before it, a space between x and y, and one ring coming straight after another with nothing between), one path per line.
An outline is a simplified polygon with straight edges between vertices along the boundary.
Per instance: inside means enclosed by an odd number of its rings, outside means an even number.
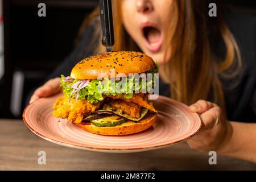
M90 121L90 123L98 127L117 126L121 125L124 122L126 122L125 119L119 117L118 115L110 115L108 117Z

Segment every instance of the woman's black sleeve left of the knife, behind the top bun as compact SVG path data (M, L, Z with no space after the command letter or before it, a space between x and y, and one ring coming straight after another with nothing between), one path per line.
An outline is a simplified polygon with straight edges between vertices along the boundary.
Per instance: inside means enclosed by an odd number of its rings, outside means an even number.
M99 17L93 19L93 21L85 28L85 31L81 37L79 44L68 55L68 57L61 63L55 71L47 77L47 80L60 75L69 76L71 69L82 59L88 56L92 56L95 53L95 49L100 39L100 30L98 26L100 23ZM47 81L46 80L46 81Z

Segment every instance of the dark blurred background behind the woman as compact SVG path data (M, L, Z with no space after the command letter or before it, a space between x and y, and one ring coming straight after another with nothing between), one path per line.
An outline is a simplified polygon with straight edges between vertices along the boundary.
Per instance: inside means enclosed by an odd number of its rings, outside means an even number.
M28 93L72 51L82 21L98 0L2 1L5 75L0 80L0 118L21 118ZM38 16L40 2L46 3L46 17ZM254 1L221 2L255 10Z

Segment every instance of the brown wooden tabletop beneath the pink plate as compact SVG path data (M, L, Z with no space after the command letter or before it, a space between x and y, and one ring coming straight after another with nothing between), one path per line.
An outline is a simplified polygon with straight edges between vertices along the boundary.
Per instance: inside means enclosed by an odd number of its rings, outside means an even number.
M46 151L46 165L38 164L38 152ZM131 154L107 154L53 144L33 134L20 120L0 119L1 170L184 170L256 169L256 164L209 155L183 142L166 148Z

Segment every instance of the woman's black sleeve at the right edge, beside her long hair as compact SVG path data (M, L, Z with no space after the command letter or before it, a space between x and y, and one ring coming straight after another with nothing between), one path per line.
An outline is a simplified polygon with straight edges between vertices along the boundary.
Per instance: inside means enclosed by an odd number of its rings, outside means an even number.
M222 82L226 111L230 121L256 122L256 15L243 9L229 9L225 20L237 41L242 56L242 71Z

